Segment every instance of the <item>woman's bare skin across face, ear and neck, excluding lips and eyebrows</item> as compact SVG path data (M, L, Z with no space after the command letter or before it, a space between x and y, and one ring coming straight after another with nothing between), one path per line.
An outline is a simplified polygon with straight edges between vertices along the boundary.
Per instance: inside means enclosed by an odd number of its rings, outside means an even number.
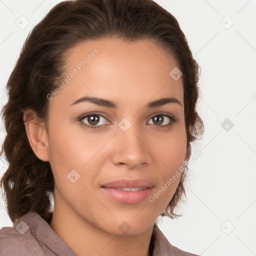
M49 161L54 180L54 211L51 228L77 255L149 255L148 246L156 218L171 200L180 176L150 202L117 202L100 189L112 180L143 178L155 186L153 195L186 159L186 133L182 77L169 72L178 66L172 55L150 40L126 42L118 38L90 40L68 51L68 75L84 57L99 52L52 99L48 122L36 122L36 114L25 112L29 143L38 158ZM72 102L95 96L116 102L116 109L91 102ZM148 101L166 96L180 101L147 109ZM89 129L92 111L101 125ZM163 123L152 117L159 112L173 115ZM28 116L34 118L28 120ZM118 127L126 118L127 131ZM163 127L165 125L165 128ZM72 183L67 174L79 174ZM126 221L130 230L118 226Z

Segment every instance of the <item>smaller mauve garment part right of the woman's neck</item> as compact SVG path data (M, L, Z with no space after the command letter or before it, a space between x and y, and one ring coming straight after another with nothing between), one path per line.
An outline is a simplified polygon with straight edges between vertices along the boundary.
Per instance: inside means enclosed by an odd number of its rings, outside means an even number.
M198 256L196 254L181 250L178 247L172 245L156 224L153 227L153 235L154 235L153 256L155 255L157 256L158 255Z

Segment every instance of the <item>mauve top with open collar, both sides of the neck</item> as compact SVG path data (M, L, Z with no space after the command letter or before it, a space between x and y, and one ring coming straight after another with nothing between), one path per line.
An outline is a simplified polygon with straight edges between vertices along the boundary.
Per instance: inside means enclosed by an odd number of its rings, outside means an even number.
M171 245L156 224L149 253L152 256L198 256ZM0 229L0 256L43 255L76 256L38 213L29 211L15 221L13 227Z

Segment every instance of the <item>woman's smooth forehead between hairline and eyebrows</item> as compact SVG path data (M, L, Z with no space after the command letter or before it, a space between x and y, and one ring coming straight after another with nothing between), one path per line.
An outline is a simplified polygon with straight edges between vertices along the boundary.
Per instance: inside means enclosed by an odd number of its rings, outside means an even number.
M89 95L122 102L175 96L183 102L182 77L174 80L169 74L177 66L174 57L151 40L88 40L68 50L64 77L75 75L58 94L67 101Z

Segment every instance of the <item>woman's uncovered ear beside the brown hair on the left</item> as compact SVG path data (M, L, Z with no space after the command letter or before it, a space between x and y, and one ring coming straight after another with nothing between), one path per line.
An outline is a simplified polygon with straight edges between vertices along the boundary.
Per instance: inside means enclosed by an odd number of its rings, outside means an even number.
M45 122L40 121L32 109L26 109L23 115L26 135L34 154L42 161L49 161L48 134Z

